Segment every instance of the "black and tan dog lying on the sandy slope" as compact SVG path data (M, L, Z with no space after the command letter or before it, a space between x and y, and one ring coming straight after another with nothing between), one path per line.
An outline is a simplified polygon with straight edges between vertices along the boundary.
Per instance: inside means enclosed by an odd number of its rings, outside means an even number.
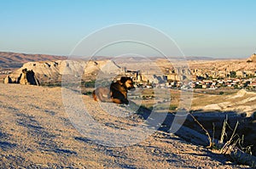
M119 81L112 82L110 88L97 87L92 92L92 96L96 101L113 102L116 104L129 104L127 99L128 90L134 90L131 77L122 76Z

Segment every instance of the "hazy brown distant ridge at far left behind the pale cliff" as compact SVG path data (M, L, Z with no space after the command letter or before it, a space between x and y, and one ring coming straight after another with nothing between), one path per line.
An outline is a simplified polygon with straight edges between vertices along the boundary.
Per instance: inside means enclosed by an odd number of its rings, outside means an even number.
M63 60L66 56L55 56L49 54L20 54L12 52L0 52L0 69L16 69L23 64L33 61Z

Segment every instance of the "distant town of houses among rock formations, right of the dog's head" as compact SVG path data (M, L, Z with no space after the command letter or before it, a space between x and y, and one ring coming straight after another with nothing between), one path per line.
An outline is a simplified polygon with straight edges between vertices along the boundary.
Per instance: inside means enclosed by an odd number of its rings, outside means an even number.
M140 70L126 71L125 76L131 76L136 82L137 87L168 87L168 88L202 88L202 89L217 89L230 88L247 90L256 89L256 72L252 71L230 71L230 72L212 72L212 75L205 74L200 76L197 73L199 70L166 70L164 76L143 74ZM219 76L218 76L219 75ZM151 80L148 76L153 76ZM190 76L191 79L187 79ZM184 83L188 81L188 83Z

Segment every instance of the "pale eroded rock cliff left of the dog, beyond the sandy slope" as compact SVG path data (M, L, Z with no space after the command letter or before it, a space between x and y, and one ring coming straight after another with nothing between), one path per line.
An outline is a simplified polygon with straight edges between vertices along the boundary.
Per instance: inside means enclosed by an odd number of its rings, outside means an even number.
M113 61L97 60L56 60L56 61L40 61L28 62L20 69L15 70L12 74L6 76L5 83L20 84L38 84L44 82L61 82L62 75L71 75L95 80L98 72L102 70L121 71L121 68ZM26 71L26 72L25 72ZM22 75L21 75L22 74ZM38 79L38 82L32 80ZM26 81L26 79L28 79Z

